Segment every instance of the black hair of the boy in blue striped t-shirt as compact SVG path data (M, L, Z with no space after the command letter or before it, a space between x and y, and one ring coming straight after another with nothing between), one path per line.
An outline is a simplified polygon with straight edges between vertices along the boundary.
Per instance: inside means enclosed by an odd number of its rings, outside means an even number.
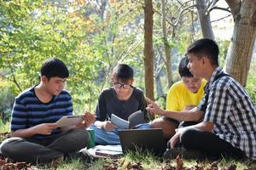
M63 61L61 61L61 59L57 59L55 57L44 61L44 63L41 66L40 73L41 77L45 76L48 79L51 77L69 77L67 65L65 65Z

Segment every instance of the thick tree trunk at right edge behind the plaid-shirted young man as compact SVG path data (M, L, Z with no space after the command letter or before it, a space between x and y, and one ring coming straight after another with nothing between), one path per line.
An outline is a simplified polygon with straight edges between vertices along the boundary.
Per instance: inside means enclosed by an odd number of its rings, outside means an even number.
M235 26L226 59L226 71L242 86L246 86L256 37L255 0L226 0L233 14ZM236 4L236 5L234 5ZM237 4L241 4L237 8Z

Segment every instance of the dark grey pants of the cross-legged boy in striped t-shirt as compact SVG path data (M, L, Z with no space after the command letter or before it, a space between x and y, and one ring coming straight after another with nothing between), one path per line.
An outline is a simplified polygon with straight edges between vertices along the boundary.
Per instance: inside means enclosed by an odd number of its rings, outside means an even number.
M85 129L72 129L53 139L5 139L0 145L3 156L15 161L44 163L84 148L89 140Z

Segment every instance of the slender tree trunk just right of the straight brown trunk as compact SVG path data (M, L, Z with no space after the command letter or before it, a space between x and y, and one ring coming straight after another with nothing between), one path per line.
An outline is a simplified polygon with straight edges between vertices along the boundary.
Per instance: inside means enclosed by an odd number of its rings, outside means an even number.
M165 46L165 53L166 53L166 72L167 72L167 82L168 88L172 86L172 67L171 67L171 50L168 43L168 38L166 36L166 0L161 0L161 10L162 10L162 33L164 38L164 46Z

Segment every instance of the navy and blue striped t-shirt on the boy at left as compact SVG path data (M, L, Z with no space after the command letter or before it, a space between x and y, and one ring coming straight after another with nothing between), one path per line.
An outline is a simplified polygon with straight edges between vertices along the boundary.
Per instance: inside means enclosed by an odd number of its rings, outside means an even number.
M61 116L73 115L73 103L70 94L62 90L61 94L53 96L48 103L42 103L35 95L35 87L28 88L15 99L11 117L11 131L34 127L41 123L56 122ZM51 135L37 134L33 139L47 139L61 129L52 131Z

